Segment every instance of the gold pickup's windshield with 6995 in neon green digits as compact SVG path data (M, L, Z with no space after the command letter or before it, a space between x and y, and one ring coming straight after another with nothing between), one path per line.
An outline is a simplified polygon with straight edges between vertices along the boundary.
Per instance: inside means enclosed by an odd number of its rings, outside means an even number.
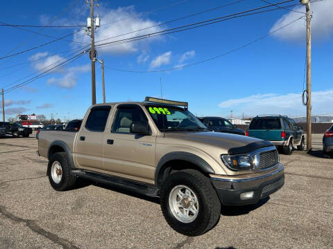
M160 105L148 105L146 109L160 131L209 131L185 109Z

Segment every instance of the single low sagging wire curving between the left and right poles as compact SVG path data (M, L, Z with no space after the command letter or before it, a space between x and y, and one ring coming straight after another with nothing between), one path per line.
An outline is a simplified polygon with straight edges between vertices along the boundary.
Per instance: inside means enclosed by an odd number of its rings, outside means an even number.
M207 59L204 59L204 60L201 60L199 62L194 62L194 63L191 63L191 64L187 64L187 65L184 65L184 66L176 66L176 67L173 67L173 68L166 68L166 69L161 69L161 70L154 70L154 71L130 71L130 70L125 70L125 69L119 69L119 68L112 68L110 66L105 66L105 68L109 68L109 69L112 69L114 71L122 71L122 72L127 72L127 73L159 73L159 72L165 72L165 71L173 71L173 70L179 70L179 69L182 69L182 68L185 68L185 67L189 67L189 66L195 66L195 65L198 65L198 64L202 64L204 62L208 62L210 60L213 60L213 59L217 59L219 57L223 57L225 55L229 55L230 53L234 53L236 52L237 50L241 50L242 48L245 48L247 46L250 46L252 44L255 44L256 42L259 42L260 40L262 39L265 39L266 37L272 35L273 33L276 33L278 32L279 30L282 30L282 28L286 28L287 26L293 24L294 22L302 19L304 16L302 17L298 17L298 19L295 19L291 22L289 22L288 24L284 25L284 26L281 26L280 28L277 28L275 30L272 30L270 33L267 33L266 35L263 35L262 37L259 37L257 39L254 39L253 41L251 42L248 42L247 44L244 44L242 46L239 46L237 48L234 48L232 50L229 50L228 52L225 52L221 55L216 55L214 57L210 57L210 58L207 58Z

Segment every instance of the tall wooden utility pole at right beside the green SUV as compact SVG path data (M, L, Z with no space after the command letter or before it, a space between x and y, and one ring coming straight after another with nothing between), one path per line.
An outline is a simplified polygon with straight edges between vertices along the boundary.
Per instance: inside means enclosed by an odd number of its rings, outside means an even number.
M307 10L307 151L312 149L311 142L311 12L310 1L300 0Z

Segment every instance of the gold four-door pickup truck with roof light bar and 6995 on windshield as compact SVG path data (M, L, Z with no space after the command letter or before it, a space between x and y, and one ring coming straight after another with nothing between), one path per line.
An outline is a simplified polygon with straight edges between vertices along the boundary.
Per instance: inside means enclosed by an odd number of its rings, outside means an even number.
M77 178L160 197L171 228L188 236L210 230L221 205L248 205L284 185L269 141L212 132L187 102L95 104L79 131L40 131L37 154L58 191Z

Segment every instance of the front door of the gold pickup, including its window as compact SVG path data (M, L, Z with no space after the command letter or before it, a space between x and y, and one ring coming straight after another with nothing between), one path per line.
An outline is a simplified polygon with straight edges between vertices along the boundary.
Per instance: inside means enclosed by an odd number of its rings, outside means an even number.
M130 133L130 125L137 121L148 123L142 107L137 104L117 107L111 130L104 136L103 169L117 176L153 183L156 134Z

